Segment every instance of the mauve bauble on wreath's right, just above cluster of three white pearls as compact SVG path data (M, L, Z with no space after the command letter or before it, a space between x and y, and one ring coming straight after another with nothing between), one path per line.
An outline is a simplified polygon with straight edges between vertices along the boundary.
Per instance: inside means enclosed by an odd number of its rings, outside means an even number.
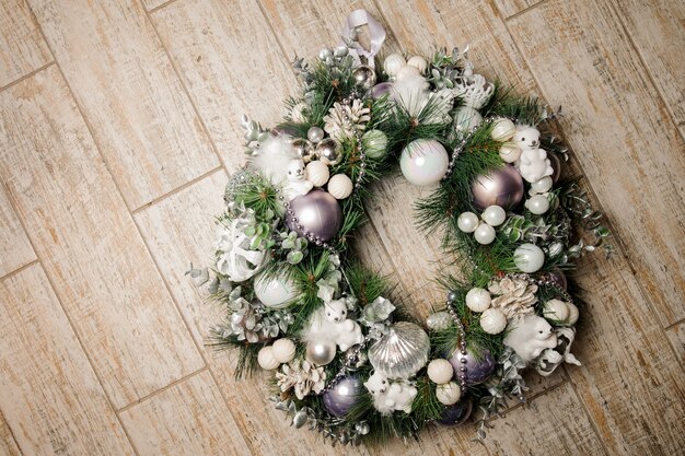
M495 204L512 209L523 199L523 178L512 165L504 165L477 176L471 192L474 204L479 209Z

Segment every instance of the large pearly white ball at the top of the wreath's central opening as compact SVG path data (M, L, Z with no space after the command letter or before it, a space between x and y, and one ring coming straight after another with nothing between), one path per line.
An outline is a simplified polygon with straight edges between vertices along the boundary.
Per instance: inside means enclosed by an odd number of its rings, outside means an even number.
M438 184L448 173L450 157L444 147L433 139L417 139L403 151L399 159L402 174L410 184Z

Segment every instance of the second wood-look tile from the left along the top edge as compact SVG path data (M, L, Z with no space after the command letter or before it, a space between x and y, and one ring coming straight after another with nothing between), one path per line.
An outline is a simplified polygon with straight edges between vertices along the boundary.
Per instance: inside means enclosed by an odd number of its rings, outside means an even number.
M130 209L219 165L137 0L31 0Z

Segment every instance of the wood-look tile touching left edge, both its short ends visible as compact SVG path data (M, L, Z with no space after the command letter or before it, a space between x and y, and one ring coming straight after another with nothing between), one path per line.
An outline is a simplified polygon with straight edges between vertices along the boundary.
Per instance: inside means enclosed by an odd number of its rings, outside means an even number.
M57 67L0 93L0 178L115 407L204 366Z

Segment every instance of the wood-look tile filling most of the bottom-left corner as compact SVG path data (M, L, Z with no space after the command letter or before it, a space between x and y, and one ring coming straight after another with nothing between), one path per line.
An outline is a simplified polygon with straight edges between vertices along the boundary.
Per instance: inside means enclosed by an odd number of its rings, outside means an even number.
M135 454L39 265L0 281L0 410L24 455Z

